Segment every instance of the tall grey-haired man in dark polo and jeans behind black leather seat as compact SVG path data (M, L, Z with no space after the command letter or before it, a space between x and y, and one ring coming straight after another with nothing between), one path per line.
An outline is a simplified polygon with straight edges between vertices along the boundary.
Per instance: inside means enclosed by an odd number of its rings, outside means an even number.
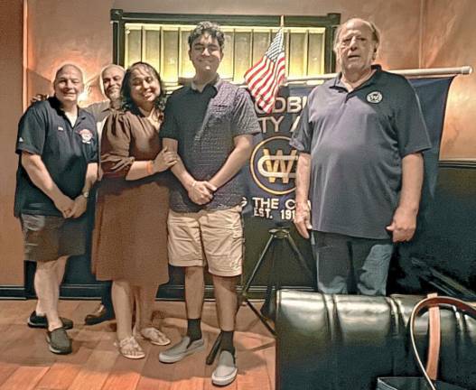
M350 19L336 32L341 73L314 88L299 151L294 223L311 238L321 292L385 295L393 243L410 240L431 144L414 89L372 65L380 35Z

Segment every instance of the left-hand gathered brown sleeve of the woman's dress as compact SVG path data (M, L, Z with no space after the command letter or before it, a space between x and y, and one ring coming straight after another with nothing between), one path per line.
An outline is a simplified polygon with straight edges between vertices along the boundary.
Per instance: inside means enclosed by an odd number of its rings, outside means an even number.
M126 177L134 163L129 155L130 123L123 113L107 116L101 137L101 169L105 177Z

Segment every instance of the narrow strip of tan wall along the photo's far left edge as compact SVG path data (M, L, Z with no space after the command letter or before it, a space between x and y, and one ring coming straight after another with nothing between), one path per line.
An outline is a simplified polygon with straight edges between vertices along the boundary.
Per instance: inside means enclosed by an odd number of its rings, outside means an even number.
M14 218L16 125L22 115L23 2L0 2L0 285L23 283L22 234Z

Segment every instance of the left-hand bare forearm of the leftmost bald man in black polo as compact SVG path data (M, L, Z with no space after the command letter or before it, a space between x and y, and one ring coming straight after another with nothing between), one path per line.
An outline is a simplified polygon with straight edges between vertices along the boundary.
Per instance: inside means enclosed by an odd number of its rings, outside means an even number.
M67 218L67 214L73 207L73 200L61 192L56 183L51 179L50 172L42 162L39 154L22 152L22 166L28 173L33 184L42 190L48 198L50 198L56 209L59 209L63 217Z

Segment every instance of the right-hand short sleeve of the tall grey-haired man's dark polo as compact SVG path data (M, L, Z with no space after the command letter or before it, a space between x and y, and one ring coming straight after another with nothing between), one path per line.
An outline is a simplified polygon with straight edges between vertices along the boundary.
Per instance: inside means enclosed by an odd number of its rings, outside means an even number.
M394 116L398 152L403 158L410 153L423 152L431 148L431 141L415 89L402 80L402 88Z

